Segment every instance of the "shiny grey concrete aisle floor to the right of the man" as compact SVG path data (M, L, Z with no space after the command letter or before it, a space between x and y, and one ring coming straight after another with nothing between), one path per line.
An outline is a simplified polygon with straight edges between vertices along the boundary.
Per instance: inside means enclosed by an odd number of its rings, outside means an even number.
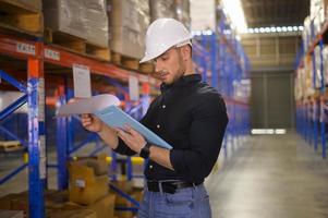
M206 185L214 218L328 217L328 161L295 133L250 136Z

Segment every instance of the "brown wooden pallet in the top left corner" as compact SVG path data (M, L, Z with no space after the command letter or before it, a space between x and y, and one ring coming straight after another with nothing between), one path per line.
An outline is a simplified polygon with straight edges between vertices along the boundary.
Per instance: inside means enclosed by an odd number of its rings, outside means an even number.
M20 1L0 0L0 27L41 37L44 16L41 11L32 9Z

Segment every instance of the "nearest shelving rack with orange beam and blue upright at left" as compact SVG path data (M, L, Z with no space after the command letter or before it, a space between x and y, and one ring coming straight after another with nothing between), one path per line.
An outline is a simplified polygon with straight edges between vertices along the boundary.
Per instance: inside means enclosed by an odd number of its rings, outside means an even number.
M46 158L46 135L45 135L45 63L53 65L72 68L73 64L82 64L89 68L92 73L111 77L113 80L127 81L130 76L135 76L141 83L146 85L156 85L155 78L131 72L111 63L99 61L97 59L73 53L65 49L46 45L41 38L12 36L11 34L0 34L0 55L2 57L11 57L27 62L27 86L24 86L12 77L9 73L0 71L1 78L14 85L24 95L15 102L10 105L0 112L0 122L13 113L20 106L27 102L28 105L28 164L19 167L5 178L1 179L1 184L10 180L16 173L22 171L28 166L28 202L29 202L29 216L44 217L45 215L45 201L44 190L46 187L47 175L47 158ZM68 99L61 98L62 102ZM64 128L65 121L60 120L61 125ZM63 132L61 132L63 133ZM66 133L66 132L65 132ZM58 133L60 134L60 133ZM63 134L65 135L65 134ZM65 161L68 158L66 142L61 134L61 143L58 145L59 164L57 167L61 177L60 181L65 181ZM13 135L11 135L13 136ZM62 141L63 140L63 141ZM23 143L24 144L24 143ZM62 182L61 187L65 186Z

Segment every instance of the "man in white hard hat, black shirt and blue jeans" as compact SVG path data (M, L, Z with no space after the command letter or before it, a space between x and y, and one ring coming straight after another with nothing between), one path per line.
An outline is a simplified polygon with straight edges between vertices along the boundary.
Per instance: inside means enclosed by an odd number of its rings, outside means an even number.
M195 74L191 38L182 23L159 19L147 29L141 61L154 60L162 82L161 95L141 122L172 149L147 143L129 125L113 130L83 114L83 125L117 153L149 158L139 218L211 217L203 182L218 158L228 117L221 96Z

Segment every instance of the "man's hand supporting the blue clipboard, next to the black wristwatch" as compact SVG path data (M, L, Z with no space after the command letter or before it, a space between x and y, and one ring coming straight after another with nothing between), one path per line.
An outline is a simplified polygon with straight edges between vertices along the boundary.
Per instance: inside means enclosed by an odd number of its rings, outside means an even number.
M118 136L124 141L124 143L137 154L141 154L142 148L146 145L145 137L133 130L130 125L125 124L124 130L116 129Z

